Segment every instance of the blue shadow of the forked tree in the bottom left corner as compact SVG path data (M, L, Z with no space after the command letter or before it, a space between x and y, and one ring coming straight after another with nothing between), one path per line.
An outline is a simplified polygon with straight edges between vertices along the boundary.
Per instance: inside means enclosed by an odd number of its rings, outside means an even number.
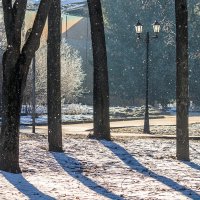
M30 200L55 200L55 198L48 196L39 191L34 185L29 183L21 174L11 174L7 172L0 172L15 188L27 196Z

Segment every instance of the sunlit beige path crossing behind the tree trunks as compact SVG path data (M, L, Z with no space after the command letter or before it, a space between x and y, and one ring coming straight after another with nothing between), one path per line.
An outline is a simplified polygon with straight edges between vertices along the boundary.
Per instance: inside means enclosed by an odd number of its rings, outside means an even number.
M200 123L200 117L194 116L189 117L189 123ZM115 121L111 122L111 128L121 128L121 127L142 127L144 124L144 120L129 120L129 121ZM165 116L160 119L150 119L150 126L155 125L163 125L163 126L175 126L176 125L176 117L175 116ZM80 123L80 124L67 124L62 126L63 134L84 134L88 135L90 131L92 131L93 124L92 123ZM21 132L31 133L31 126L25 127L21 129ZM47 126L37 126L37 133L47 134ZM115 136L133 136L134 133L113 133ZM138 136L138 134L137 134ZM152 137L152 135L140 134L140 136L144 137ZM157 136L158 137L158 136ZM162 136L163 137L163 136ZM168 137L168 136L166 136ZM174 136L169 136L174 137Z

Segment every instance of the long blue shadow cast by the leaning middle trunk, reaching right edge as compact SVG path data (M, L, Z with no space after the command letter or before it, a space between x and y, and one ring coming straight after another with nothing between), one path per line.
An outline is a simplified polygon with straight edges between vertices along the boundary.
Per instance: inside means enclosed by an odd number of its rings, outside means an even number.
M119 144L114 142L108 141L101 141L101 143L112 151L119 159L121 159L126 165L131 167L133 170L144 174L145 176L149 176L154 178L155 180L169 186L170 188L174 189L182 193L184 196L192 198L192 199L200 199L200 194L197 192L180 185L179 183L175 182L174 180L167 178L165 176L161 176L156 174L155 172L151 171L147 167L143 166L140 162L138 162L132 155L130 155L123 147Z

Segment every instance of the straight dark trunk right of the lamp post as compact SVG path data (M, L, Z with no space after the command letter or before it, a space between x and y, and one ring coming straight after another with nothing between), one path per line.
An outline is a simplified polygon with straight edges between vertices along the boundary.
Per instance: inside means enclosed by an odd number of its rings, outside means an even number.
M176 135L178 160L189 160L188 133L188 11L187 0L175 1L176 13Z

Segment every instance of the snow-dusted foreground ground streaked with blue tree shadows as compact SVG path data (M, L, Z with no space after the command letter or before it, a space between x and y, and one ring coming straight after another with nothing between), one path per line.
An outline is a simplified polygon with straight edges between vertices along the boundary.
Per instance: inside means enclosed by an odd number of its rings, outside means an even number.
M174 157L172 140L118 142L65 138L64 153L47 151L47 139L23 139L23 173L0 172L1 199L200 199L200 142L191 162Z

